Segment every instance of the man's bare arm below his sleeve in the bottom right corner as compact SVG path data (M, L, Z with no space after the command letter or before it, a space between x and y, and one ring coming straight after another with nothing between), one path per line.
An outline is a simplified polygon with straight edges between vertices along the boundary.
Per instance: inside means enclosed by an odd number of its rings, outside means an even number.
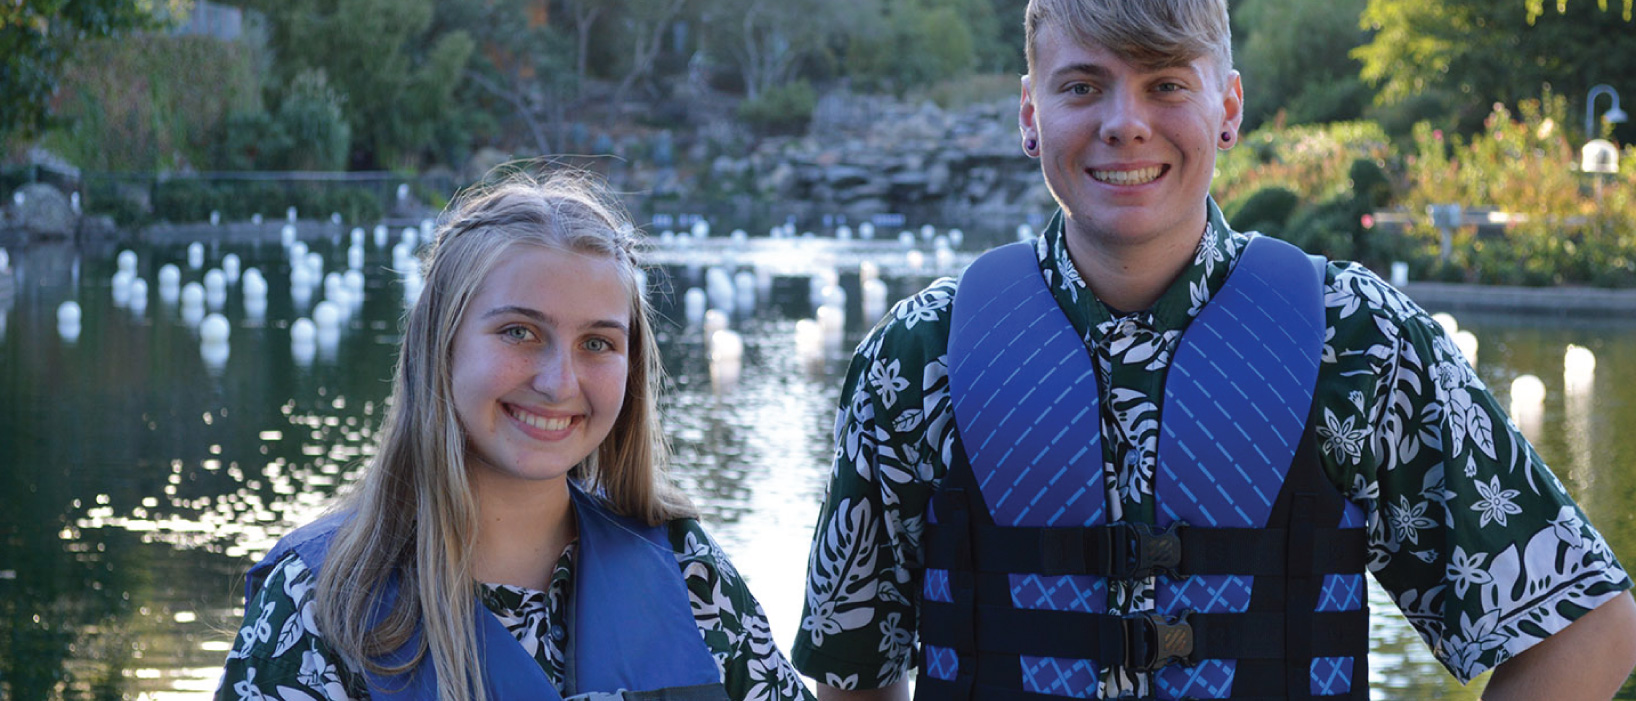
M1495 667L1482 699L1610 699L1633 668L1636 599L1625 593Z

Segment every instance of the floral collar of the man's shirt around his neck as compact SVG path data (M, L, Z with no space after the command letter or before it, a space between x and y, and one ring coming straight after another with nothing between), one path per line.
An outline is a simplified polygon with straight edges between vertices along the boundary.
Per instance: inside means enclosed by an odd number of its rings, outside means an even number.
M1227 274L1238 262L1238 254L1243 252L1248 241L1245 234L1227 226L1216 200L1207 198L1204 236L1199 237L1193 260L1165 288L1153 306L1132 311L1121 319L1112 316L1108 305L1096 300L1096 295L1080 278L1080 270L1073 267L1073 259L1068 257L1062 210L1045 224L1045 231L1036 242L1036 252L1039 254L1040 275L1057 298L1057 305L1068 314L1068 321L1080 331L1081 337L1094 342L1114 326L1114 321L1122 319L1158 332L1186 328L1188 321L1193 321L1204 303L1227 282Z

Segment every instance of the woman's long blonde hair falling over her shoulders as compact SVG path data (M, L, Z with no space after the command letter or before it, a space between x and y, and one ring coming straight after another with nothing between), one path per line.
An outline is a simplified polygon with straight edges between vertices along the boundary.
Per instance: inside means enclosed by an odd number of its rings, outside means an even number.
M638 288L636 241L607 187L586 174L512 174L450 205L425 262L425 287L407 313L380 449L363 482L337 506L352 518L335 532L317 578L319 629L350 662L394 675L430 655L440 698L486 699L473 624L478 504L450 359L470 300L514 246L612 259L631 300L625 405L602 445L569 477L614 511L649 526L695 516L666 473L656 406L663 370ZM398 598L389 611L378 611L393 580ZM384 667L380 657L409 640L417 626L424 635L414 657Z

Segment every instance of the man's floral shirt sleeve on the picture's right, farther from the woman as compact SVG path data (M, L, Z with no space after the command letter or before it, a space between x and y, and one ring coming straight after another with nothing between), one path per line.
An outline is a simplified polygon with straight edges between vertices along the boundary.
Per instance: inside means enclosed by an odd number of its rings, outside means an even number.
M1325 464L1368 509L1369 570L1454 676L1631 586L1441 324L1361 269L1327 301Z

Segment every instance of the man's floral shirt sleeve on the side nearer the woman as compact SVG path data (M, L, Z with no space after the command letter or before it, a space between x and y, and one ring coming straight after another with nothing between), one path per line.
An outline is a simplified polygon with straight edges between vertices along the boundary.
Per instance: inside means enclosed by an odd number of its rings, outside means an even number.
M829 686L888 686L915 667L919 542L954 452L952 300L954 282L939 280L893 306L841 390L793 647L797 668Z

